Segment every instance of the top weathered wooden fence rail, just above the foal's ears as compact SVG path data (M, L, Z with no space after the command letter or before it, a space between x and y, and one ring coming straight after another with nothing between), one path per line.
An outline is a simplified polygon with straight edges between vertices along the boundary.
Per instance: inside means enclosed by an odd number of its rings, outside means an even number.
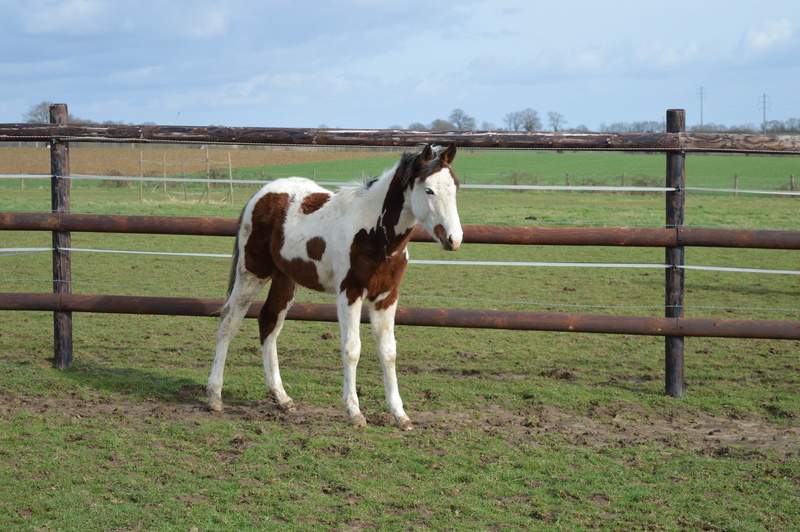
M455 142L461 148L800 154L800 137L794 135L0 124L0 141L49 140L367 147Z

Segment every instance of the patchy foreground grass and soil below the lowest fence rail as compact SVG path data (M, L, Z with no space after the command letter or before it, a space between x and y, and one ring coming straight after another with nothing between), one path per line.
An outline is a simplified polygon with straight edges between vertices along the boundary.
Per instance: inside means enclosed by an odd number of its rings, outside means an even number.
M0 319L0 515L12 528L760 530L800 520L796 342L692 339L687 397L674 400L661 393L653 339L400 327L416 425L403 433L369 342L359 389L370 425L347 424L334 324L288 324L283 376L298 410L284 414L265 400L247 323L215 415L202 404L214 320L82 314L74 368L57 372L48 315Z

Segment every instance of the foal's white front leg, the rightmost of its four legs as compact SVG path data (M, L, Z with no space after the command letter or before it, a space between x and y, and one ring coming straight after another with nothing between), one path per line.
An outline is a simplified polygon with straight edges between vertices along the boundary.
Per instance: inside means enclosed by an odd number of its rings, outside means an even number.
M414 426L403 410L403 400L400 399L400 390L397 387L397 372L395 361L397 359L397 342L394 339L394 316L397 303L388 308L376 309L371 305L369 309L372 334L378 347L378 357L383 370L383 388L386 391L386 406L394 415L397 426L403 430L411 430Z

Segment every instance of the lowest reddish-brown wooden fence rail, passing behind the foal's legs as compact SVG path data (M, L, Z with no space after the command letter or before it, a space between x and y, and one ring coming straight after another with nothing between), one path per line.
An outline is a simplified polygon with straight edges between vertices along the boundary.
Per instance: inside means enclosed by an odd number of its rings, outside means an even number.
M0 293L0 310L100 312L173 316L218 316L221 299L98 296L82 294ZM253 303L248 318L258 317L263 303ZM287 318L299 321L336 321L336 305L295 303ZM361 321L369 322L364 308ZM441 308L397 309L398 325L514 329L646 336L707 336L800 340L800 322L697 318L659 318L511 312Z

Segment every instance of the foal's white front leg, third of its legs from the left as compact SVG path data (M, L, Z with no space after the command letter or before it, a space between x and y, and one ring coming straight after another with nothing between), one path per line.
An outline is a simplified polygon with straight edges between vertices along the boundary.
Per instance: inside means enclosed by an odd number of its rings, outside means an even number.
M339 333L342 339L342 363L344 365L344 383L342 385L342 403L353 426L363 427L367 420L361 414L356 394L356 368L361 356L361 338L359 328L361 323L361 298L352 304L348 301L347 294L340 292L336 299L339 318Z

